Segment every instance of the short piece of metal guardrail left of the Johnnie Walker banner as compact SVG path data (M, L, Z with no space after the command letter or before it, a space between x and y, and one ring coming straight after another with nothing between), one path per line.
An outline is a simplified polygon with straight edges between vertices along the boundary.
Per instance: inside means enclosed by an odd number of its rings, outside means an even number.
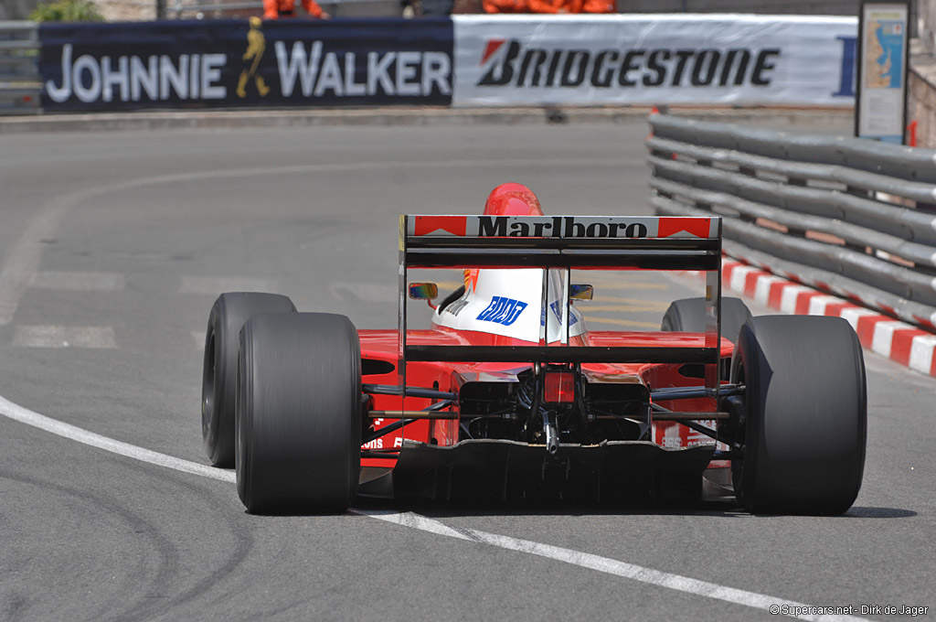
M36 22L0 22L0 114L37 112L39 35Z

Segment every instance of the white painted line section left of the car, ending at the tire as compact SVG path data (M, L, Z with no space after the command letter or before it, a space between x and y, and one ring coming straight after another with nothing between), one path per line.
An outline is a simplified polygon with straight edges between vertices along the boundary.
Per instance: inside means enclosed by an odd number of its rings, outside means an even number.
M70 423L60 422L51 417L33 412L28 408L17 406L2 396L0 396L0 414L14 421L32 425L46 432L51 432L59 437L77 440L85 445L90 445L91 447L96 447L106 452L123 455L127 458L133 458L140 462L156 466L166 466L167 468L182 471L183 473L192 473L193 475L212 478L212 480L230 481L232 483L235 481L233 471L225 471L212 466L199 465L197 462L173 458L165 453L144 450L142 447L137 447L136 445L124 443L109 437L102 437L99 434L88 432Z

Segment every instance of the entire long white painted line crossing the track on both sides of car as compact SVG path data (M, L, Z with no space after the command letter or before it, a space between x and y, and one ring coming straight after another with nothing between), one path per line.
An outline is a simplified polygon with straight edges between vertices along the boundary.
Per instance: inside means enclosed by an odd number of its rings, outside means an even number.
M230 483L237 481L233 471L199 465L189 460L174 458L165 453L153 452L137 447L136 445L114 440L113 438L102 437L94 432L89 432L75 425L51 419L51 417L40 415L37 412L13 404L2 396L0 396L0 414L14 421L26 423L27 425L32 425L46 432L51 432L54 435L76 440L85 445L90 445L91 447L96 447L107 452L117 453L118 455L133 458L140 462L156 466L165 466L177 471L182 471L183 473L192 473L193 475L211 478L212 480L227 481ZM742 589L735 589L734 587L725 587L724 585L699 581L661 570L652 570L643 566L637 566L636 564L628 564L627 562L617 559L602 557L601 555L582 553L580 551L573 551L572 549L542 544L540 542L519 540L517 538L500 536L476 529L458 529L413 512L393 510L352 511L363 516L369 516L395 525L419 529L420 531L426 531L437 536L474 541L496 546L508 551L537 555L547 559L561 561L566 564L572 564L580 568L597 570L624 579L632 579L644 584L674 589L687 594L702 596L707 599L724 600L725 602L753 607L754 609L762 611L770 612L771 607L782 607L784 605L793 609L809 607L809 605L793 600L775 599L764 594L757 594L756 592L748 592ZM845 622L851 620L868 622L865 618L851 615L788 615L788 617L810 621Z

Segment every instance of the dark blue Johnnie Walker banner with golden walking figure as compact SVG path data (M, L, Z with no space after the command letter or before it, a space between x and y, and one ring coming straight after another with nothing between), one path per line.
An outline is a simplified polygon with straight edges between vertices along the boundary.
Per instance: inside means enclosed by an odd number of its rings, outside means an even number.
M447 19L64 23L39 38L47 111L451 102Z

